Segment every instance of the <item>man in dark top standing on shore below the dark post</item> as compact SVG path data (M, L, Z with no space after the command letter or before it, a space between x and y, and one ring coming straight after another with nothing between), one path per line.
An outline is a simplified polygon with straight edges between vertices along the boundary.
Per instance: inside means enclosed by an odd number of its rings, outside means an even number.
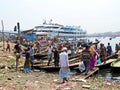
M18 65L19 65L19 59L20 59L21 52L22 52L19 40L17 40L17 44L14 46L14 50L15 50L15 55L16 55L16 71L17 71Z

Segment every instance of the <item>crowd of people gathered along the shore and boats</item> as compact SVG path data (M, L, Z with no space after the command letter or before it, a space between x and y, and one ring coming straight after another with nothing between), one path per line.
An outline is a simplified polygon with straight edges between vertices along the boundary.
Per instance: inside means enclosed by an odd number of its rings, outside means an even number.
M78 45L79 44L79 45ZM103 43L90 43L84 44L83 46L80 43L67 43L67 44L58 44L56 42L49 43L47 47L48 63L46 66L49 66L51 61L54 59L54 66L60 66L59 75L63 79L63 83L68 81L67 76L69 75L69 55L74 55L79 48L82 48L81 61L85 66L85 75L88 74L90 70L93 70L95 65L98 64L98 59L106 63L105 58L111 56L113 53L112 47L108 42L108 45L105 46ZM116 44L116 52L120 50L120 43ZM10 44L7 42L6 51L10 52ZM19 59L21 55L25 55L24 71L30 72L33 69L34 65L34 54L41 52L40 42L29 43L25 50L22 49L20 41L17 40L16 45L14 46L14 53L16 55L16 70L18 70ZM80 61L80 62L81 62Z

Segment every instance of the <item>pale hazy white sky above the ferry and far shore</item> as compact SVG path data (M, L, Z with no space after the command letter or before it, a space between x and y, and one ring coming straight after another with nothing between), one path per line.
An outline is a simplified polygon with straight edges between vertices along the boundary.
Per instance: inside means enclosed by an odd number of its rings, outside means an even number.
M13 31L17 22L21 31L28 30L50 19L88 34L120 31L120 0L0 0L5 30Z

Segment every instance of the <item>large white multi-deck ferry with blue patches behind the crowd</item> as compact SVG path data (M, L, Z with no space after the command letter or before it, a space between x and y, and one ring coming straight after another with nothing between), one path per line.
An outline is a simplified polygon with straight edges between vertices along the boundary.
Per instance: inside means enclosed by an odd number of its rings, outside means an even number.
M77 40L86 37L86 31L80 26L64 26L56 23L46 23L34 27L34 33L49 38L58 37L62 40Z

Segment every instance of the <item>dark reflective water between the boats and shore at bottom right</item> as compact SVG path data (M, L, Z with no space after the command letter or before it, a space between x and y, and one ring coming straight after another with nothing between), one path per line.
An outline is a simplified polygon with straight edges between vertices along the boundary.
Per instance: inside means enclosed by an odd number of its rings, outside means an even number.
M99 70L97 77L104 78L105 80L120 81L120 73L113 73L111 69Z

